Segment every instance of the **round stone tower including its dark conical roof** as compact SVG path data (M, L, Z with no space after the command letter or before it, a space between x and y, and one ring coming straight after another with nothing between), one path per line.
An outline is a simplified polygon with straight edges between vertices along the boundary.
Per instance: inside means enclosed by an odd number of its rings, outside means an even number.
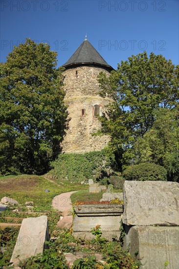
M69 113L69 129L62 143L65 153L99 151L107 145L109 137L92 136L101 123L97 115L105 113L110 98L99 95L97 76L113 69L97 50L85 39L69 58L64 71L65 102Z

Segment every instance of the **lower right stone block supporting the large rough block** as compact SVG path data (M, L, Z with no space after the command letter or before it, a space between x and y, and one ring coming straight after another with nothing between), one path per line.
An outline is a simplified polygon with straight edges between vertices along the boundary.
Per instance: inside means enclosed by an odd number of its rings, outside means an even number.
M126 226L126 225L125 225ZM125 227L124 248L140 259L140 269L179 268L179 227L132 226Z

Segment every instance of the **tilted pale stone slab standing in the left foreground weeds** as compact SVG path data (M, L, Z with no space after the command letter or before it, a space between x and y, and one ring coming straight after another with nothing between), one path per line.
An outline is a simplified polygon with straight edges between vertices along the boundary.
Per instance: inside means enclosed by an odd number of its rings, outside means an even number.
M10 263L15 267L20 261L43 253L44 242L49 240L47 216L23 219Z

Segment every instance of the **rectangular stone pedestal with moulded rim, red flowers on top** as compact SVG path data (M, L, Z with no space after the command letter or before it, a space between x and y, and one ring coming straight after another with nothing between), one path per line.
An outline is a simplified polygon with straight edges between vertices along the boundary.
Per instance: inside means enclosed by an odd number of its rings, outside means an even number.
M75 206L76 215L73 217L73 235L83 239L91 239L90 233L96 225L101 225L102 237L112 240L119 237L121 214L120 204L88 204Z

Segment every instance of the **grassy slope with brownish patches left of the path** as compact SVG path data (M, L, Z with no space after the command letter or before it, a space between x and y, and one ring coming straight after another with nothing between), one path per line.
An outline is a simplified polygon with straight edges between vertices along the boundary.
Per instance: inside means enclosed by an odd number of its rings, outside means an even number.
M51 210L54 196L68 191L85 189L87 186L62 182L57 185L43 176L21 175L0 177L0 199L8 196L24 204L33 201L35 210ZM45 189L49 192L45 192Z

